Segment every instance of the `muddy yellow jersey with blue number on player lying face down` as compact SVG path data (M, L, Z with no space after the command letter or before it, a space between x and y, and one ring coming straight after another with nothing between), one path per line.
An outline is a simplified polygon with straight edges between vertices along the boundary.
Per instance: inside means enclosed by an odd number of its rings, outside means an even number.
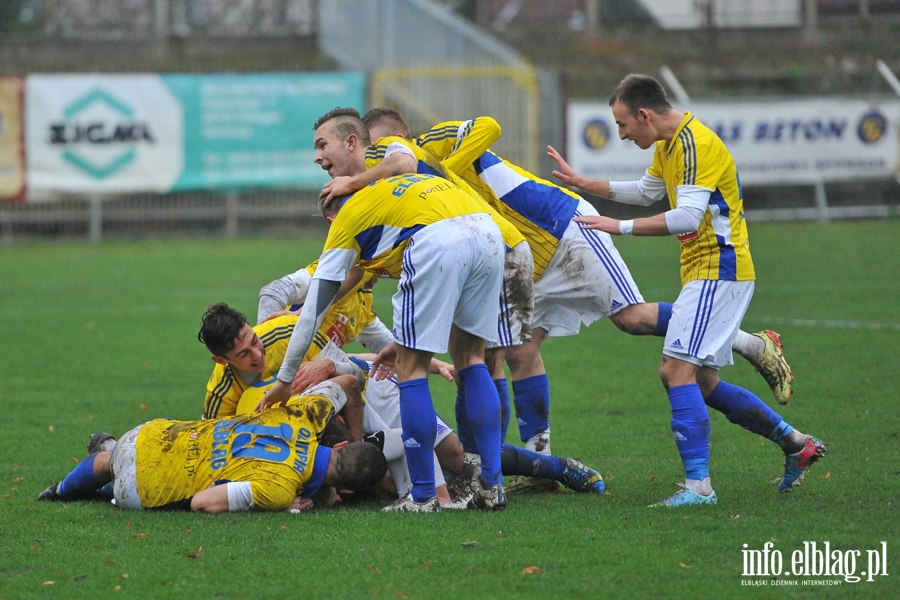
M335 407L325 396L229 419L145 423L135 445L144 508L174 508L216 483L250 483L253 508L284 510L322 485L330 448L318 438Z

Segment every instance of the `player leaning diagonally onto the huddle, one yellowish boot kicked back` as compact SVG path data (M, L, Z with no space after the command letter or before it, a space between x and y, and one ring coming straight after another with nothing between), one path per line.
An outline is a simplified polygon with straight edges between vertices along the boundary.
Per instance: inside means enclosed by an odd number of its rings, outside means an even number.
M372 109L363 121L373 136L410 136L402 116L390 108ZM413 141L455 170L528 240L535 268L533 335L509 349L507 362L520 437L527 448L549 453L550 386L540 355L546 337L575 335L582 324L604 316L631 335L665 336L672 305L645 303L610 236L580 229L573 221L597 215L590 203L491 152L499 135L497 122L482 116L439 123ZM734 348L763 374L776 399L786 403L793 376L778 335L738 331ZM465 444L465 430L457 426ZM519 480L510 489L532 489L532 483Z

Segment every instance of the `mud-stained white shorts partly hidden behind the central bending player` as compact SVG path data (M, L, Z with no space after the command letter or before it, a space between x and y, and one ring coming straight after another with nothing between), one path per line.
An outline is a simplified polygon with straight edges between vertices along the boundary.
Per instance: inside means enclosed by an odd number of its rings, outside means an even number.
M534 319L534 257L528 242L519 242L503 258L503 291L497 341L487 348L519 346L531 339Z

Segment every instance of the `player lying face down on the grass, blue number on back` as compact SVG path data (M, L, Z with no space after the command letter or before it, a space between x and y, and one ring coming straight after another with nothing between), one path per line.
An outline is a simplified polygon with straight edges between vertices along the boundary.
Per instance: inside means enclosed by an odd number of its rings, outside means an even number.
M112 452L89 455L38 500L95 498L112 482L122 509L220 513L299 509L331 487L362 491L384 476L381 451L363 442L318 443L345 401L332 380L264 413L155 419L125 433Z

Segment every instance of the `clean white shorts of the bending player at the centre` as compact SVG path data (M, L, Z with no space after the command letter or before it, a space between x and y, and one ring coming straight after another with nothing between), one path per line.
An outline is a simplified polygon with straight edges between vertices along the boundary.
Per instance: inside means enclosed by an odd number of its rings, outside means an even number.
M495 340L505 254L500 229L484 213L444 219L416 232L403 253L393 297L396 342L446 352L452 325Z

